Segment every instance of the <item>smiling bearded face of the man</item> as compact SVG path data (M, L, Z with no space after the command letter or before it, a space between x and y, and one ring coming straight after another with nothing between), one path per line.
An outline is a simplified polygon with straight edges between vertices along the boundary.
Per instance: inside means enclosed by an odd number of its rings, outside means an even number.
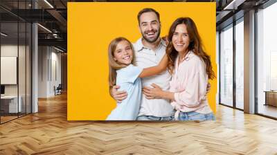
M143 39L147 42L156 42L161 33L161 24L154 12L145 12L141 15L139 28Z

